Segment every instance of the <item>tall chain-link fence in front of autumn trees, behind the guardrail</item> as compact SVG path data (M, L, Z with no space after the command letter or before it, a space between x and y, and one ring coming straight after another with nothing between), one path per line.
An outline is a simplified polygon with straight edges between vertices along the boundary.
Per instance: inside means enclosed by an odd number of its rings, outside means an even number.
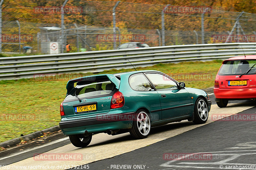
M209 6L85 0L0 0L0 52L51 54L164 45L255 42L256 15Z

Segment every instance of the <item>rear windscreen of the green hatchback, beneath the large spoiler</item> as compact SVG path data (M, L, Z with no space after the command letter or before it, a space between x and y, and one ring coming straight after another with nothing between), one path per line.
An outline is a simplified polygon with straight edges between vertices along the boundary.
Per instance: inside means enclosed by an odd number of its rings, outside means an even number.
M95 82L96 81L96 82ZM95 80L94 82L88 81L80 81L76 83L76 86L72 91L67 95L65 101L67 100L74 100L78 98L85 98L85 97L97 97L97 96L105 96L110 94L114 91L116 86L106 79ZM76 92L76 95L75 95Z

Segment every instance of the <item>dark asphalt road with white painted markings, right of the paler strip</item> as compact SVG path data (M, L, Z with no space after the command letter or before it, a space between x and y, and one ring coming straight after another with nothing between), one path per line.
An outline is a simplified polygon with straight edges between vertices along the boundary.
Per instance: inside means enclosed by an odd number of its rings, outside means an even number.
M256 107L238 115L255 118ZM232 121L234 116L229 117L230 120L212 122L135 151L87 165L93 170L241 169L243 166L254 166L245 169L256 169L255 119L250 121L247 117L247 121ZM178 154L180 159L175 157Z

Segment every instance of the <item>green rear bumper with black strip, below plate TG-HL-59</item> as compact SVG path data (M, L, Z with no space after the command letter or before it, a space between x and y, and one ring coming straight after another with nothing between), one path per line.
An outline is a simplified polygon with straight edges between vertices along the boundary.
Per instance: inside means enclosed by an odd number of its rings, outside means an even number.
M132 121L135 112L95 116L84 119L76 119L59 122L64 135L105 132L107 129L129 129L132 128Z

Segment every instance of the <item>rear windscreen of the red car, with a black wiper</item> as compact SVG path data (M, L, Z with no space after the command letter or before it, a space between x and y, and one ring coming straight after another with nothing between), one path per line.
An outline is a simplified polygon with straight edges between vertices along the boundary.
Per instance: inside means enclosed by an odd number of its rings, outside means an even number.
M241 75L246 73L256 60L234 60L227 61L220 67L219 75ZM255 67L255 68L254 68ZM256 65L248 72L248 74L256 74Z

